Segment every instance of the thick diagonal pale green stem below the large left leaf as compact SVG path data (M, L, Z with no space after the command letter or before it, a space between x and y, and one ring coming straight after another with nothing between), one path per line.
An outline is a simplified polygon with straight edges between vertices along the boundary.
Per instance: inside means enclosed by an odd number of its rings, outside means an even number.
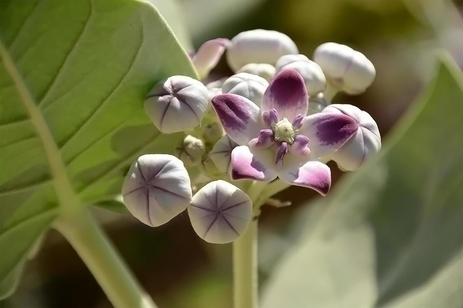
M54 227L74 247L114 307L156 307L87 209L59 218Z

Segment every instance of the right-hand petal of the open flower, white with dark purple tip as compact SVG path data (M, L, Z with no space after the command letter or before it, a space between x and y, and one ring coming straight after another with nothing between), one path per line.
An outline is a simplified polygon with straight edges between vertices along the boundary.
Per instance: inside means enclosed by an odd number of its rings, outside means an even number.
M344 145L357 129L357 121L348 115L321 112L307 116L299 133L309 138L312 157L324 157Z

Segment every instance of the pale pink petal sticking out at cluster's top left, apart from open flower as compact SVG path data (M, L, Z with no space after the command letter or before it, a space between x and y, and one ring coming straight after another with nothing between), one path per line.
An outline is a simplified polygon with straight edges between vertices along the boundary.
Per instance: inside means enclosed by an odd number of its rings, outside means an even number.
M205 79L209 72L219 63L220 57L229 45L230 41L226 38L216 38L201 45L192 59L200 79Z

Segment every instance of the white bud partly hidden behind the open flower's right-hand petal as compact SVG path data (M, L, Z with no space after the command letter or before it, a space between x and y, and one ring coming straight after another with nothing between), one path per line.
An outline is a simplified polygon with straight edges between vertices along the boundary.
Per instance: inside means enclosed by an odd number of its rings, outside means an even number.
M344 171L354 171L360 168L370 157L381 150L381 135L375 120L367 112L348 104L332 104L323 112L336 112L357 120L359 127L350 139L336 152L327 158L338 163Z

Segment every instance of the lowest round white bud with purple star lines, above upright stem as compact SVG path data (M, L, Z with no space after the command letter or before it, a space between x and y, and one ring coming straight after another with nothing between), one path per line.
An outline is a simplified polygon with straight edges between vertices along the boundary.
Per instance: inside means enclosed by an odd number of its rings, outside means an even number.
M188 206L194 232L209 243L233 242L248 228L252 214L249 196L232 184L218 180L202 187Z

